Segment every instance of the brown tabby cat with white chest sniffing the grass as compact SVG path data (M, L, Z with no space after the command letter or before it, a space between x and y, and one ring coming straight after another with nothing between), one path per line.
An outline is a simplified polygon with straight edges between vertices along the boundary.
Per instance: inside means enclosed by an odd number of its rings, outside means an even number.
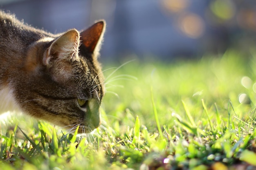
M101 124L97 60L106 22L51 34L0 11L0 113L20 111L89 133Z

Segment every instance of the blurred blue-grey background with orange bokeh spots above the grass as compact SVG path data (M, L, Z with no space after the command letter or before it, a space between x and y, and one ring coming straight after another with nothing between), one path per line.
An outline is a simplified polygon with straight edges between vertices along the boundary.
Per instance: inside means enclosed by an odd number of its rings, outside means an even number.
M105 19L106 61L249 55L256 44L255 0L0 0L0 9L51 33Z

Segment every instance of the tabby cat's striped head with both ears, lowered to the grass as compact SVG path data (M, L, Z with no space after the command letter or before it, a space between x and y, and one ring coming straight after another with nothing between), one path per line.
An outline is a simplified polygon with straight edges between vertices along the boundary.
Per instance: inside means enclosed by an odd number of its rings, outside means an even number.
M54 39L32 46L24 64L25 80L15 88L25 113L79 133L101 124L104 95L101 67L97 61L105 22L78 32L72 29Z

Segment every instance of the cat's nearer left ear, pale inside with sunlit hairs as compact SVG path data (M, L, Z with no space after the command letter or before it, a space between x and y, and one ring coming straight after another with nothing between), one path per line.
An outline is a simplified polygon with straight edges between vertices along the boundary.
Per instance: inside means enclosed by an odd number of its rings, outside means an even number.
M43 64L47 65L52 59L72 59L78 55L79 32L76 29L65 32L54 40L47 49L43 58Z

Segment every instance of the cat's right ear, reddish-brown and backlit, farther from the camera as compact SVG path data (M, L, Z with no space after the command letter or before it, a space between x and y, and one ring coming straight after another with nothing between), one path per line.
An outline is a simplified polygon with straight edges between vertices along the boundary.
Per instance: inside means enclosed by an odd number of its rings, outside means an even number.
M98 52L103 40L106 22L101 20L80 33L81 43L89 53Z

